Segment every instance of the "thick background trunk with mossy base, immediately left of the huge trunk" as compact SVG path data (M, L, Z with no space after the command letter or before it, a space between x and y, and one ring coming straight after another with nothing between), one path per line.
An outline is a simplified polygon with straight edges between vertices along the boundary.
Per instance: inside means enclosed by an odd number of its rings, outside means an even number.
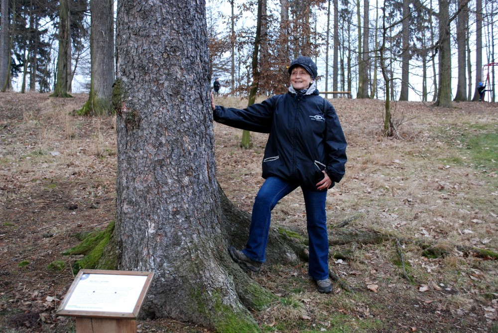
M115 80L113 0L92 0L90 12L92 15L90 94L80 113L87 115L111 114L113 111L111 99Z

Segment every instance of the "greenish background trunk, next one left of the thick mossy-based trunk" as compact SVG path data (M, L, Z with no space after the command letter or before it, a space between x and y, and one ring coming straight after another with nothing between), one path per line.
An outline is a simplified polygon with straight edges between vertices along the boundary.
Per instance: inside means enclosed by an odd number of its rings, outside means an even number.
M57 56L57 78L52 97L71 97L68 94L68 53L71 30L69 26L68 0L59 3L59 54Z

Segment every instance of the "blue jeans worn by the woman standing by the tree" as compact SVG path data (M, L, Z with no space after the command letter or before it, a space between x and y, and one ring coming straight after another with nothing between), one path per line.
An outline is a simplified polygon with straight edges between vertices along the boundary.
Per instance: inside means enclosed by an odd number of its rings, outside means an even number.
M271 211L280 199L296 188L297 185L279 177L268 177L259 189L252 207L249 238L246 248L242 250L252 260L265 262ZM327 191L302 191L309 236L308 274L315 280L323 280L329 277L329 240L325 214Z

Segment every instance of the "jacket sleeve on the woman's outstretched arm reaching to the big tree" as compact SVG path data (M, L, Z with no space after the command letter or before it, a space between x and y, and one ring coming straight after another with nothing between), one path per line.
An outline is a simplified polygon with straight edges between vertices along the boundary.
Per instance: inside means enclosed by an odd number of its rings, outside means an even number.
M269 133L275 110L275 97L258 104L252 104L246 109L225 108L217 105L213 111L214 120L251 132Z

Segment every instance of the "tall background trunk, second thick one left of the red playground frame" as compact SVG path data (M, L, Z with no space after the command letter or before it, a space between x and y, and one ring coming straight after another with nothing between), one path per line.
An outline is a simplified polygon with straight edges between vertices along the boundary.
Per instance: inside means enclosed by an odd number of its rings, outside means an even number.
M462 7L466 0L458 0L458 7ZM457 52L458 52L458 80L457 80L457 93L455 94L454 101L464 102L467 101L467 73L466 73L466 28L467 18L469 15L467 4L460 11L457 16Z

